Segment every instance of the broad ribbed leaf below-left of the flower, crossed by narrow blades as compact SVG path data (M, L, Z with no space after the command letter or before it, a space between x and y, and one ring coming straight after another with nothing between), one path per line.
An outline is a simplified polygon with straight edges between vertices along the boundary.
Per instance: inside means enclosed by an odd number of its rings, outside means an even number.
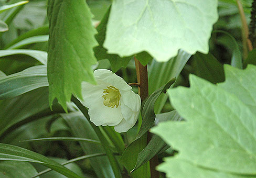
M92 129L89 121L82 115L82 113L76 112L71 114L63 114L61 116L67 121L67 124L71 128L74 136L80 138L99 140L96 133ZM80 145L84 153L86 154L104 152L103 147L99 145L87 142L80 142ZM98 177L114 177L113 170L107 158L90 158L90 164L92 165L92 168L94 169Z

